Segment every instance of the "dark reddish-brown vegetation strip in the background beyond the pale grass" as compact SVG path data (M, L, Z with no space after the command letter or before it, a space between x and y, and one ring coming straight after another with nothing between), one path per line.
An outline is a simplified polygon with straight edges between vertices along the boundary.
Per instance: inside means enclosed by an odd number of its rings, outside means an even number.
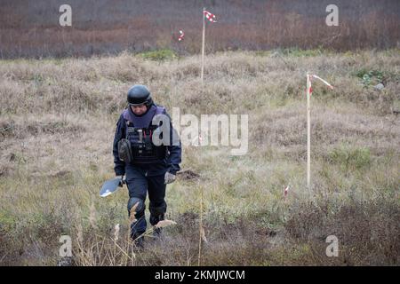
M5 0L0 9L0 57L63 57L201 48L202 7L218 16L207 28L206 51L274 48L354 50L398 47L397 0L335 2L339 27L328 27L330 1L314 0L96 0L68 2L72 27L59 25L62 1ZM185 40L178 43L179 30Z

